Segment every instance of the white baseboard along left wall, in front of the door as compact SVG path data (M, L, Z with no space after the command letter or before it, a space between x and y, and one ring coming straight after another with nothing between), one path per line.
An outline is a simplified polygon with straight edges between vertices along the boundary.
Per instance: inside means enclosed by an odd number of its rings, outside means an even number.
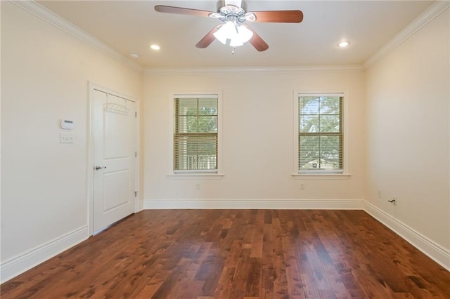
M79 244L89 237L87 225L80 227L77 230L64 234L55 238L45 244L41 244L30 251L15 255L13 258L1 261L0 264L0 281L3 284L5 281L30 270L32 267L43 263L49 258L58 255L68 248Z

